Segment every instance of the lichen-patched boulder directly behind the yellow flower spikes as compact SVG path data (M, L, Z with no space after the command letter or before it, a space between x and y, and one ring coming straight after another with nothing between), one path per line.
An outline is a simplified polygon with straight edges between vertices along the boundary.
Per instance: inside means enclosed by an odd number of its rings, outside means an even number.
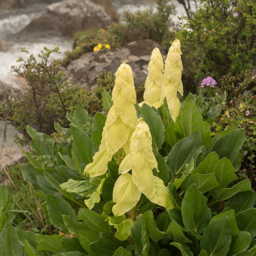
M165 53L161 47L156 42L145 39L113 50L88 52L72 61L67 68L67 73L71 77L72 84L93 88L101 71L106 70L114 74L120 64L125 61L131 66L136 81L144 82L150 55L155 47L160 49L165 59Z

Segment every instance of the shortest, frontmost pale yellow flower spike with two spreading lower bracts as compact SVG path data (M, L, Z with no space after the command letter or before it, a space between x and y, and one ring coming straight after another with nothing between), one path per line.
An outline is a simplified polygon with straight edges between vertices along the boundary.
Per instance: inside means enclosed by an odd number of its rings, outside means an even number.
M166 209L174 207L173 201L164 182L153 175L157 161L153 154L152 137L145 121L141 121L131 136L130 153L119 166L121 175L113 190L116 204L112 212L120 216L132 209L139 201L141 193L155 204ZM131 170L131 175L128 173Z

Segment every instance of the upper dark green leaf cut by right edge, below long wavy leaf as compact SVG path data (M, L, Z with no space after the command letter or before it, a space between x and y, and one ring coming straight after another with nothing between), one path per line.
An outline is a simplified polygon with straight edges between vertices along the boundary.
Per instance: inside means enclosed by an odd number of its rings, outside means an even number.
M234 209L235 213L238 214L246 209L253 208L255 204L255 191L245 191L232 196L224 205L224 209L229 207Z

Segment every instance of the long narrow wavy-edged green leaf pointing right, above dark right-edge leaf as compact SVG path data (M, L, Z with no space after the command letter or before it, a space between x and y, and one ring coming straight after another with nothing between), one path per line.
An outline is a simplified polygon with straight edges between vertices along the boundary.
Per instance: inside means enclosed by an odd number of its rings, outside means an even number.
M217 201L224 201L234 196L237 193L248 191L251 189L252 189L251 182L249 179L246 179L246 180L240 181L239 183L234 185L232 188L211 190L211 194Z

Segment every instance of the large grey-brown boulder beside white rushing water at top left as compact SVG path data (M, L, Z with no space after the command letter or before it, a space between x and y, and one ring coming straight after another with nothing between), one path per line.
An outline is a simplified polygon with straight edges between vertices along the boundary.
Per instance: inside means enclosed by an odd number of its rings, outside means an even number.
M90 0L65 0L49 5L40 17L33 19L18 35L33 32L37 35L69 37L76 31L106 27L110 23L111 17L102 6Z

